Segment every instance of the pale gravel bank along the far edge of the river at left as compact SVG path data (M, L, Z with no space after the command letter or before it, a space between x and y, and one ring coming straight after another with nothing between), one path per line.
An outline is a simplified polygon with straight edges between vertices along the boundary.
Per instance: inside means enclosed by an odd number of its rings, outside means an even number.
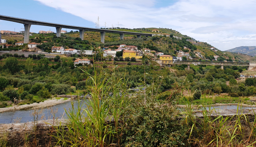
M3 112L10 112L10 111L17 111L17 110L24 110L24 109L41 109L41 108L46 108L46 107L51 107L51 106L54 106L54 105L58 105L58 104L61 104L63 102L67 102L67 101L70 101L72 100L71 98L68 98L67 100L64 100L64 98L62 99L49 99L49 100L45 100L44 102L40 102L40 103L32 103L30 105L14 105L12 107L8 107L8 108L0 108L0 113L3 113Z

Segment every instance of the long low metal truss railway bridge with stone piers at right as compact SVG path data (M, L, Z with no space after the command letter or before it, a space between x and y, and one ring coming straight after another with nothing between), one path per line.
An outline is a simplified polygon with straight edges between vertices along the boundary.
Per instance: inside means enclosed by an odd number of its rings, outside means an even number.
M194 65L211 65L211 66L221 66L223 69L224 66L247 66L248 71L251 71L254 67L256 67L256 63L246 63L246 62L214 62L214 61L164 61L160 60L161 64L186 64L188 65L188 69L190 69L190 64Z

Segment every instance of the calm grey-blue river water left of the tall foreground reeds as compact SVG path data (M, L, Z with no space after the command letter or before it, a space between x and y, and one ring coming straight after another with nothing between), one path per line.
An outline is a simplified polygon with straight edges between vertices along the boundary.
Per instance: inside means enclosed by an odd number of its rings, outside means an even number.
M40 114L37 115L38 120L65 118L65 109L69 110L72 107L71 102L73 102L74 108L78 107L78 101L68 101L52 106L50 108L43 108L40 110L18 110L14 112L3 112L0 113L0 123L15 123L17 120L19 120L20 123L34 121L35 115L33 115L33 113L35 114L35 111L40 112ZM84 102L86 101L81 102L82 108L86 108Z

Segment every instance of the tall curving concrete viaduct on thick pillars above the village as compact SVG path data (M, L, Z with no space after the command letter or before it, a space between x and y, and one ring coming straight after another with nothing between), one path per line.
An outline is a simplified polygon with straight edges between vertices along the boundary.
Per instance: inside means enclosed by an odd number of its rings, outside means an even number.
M12 21L12 22L24 24L24 28L25 28L24 43L29 42L30 26L31 25L56 27L57 37L60 37L60 35L61 35L60 32L61 32L62 28L77 29L80 32L80 38L82 40L84 40L84 31L100 32L102 43L105 42L105 33L120 34L120 39L124 39L124 34L137 35L138 38L140 38L141 36L150 36L150 37L152 37L152 36L155 35L155 34L146 34L146 33L115 31L115 30L107 30L107 29L94 29L94 28L88 28L88 27L82 27L82 26L70 26L70 25L65 25L65 24L54 24L54 23L49 23L49 22L33 21L33 20L29 20L29 19L15 18L15 17L10 17L10 16L3 16L3 15L0 15L0 20Z

